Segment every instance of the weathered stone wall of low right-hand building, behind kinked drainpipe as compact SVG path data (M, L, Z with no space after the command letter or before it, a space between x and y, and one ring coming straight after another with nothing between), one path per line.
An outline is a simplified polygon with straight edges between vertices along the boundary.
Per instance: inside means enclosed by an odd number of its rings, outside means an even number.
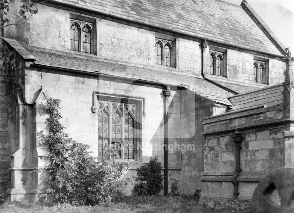
M287 122L279 120L282 120L281 105L206 118L205 167L201 178L203 194L233 195L231 181L236 174L236 155L232 135L235 133L243 136L240 150L242 171L237 177L241 198L250 198L264 175L283 167L284 132L289 127Z

